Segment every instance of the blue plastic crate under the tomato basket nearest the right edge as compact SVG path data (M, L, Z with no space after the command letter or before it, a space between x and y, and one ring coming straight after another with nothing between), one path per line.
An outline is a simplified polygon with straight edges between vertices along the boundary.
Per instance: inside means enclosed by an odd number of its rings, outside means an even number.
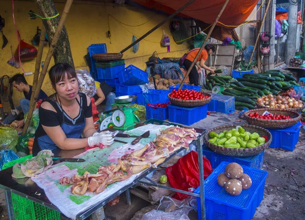
M272 135L272 142L269 147L293 151L298 142L301 125L301 122L297 122L286 129L268 129Z

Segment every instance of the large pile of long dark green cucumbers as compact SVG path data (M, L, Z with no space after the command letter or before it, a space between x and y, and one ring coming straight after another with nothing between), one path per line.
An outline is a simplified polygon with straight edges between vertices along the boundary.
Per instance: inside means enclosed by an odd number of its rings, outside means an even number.
M235 109L255 109L257 99L267 95L277 95L289 90L292 85L298 85L291 74L281 70L270 70L262 74L243 74L237 81L231 81L231 89L222 91L223 95L235 97Z

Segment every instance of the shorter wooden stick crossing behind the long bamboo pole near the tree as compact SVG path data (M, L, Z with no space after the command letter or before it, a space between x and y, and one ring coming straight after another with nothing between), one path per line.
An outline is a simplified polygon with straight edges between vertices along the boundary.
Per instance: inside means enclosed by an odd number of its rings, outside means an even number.
M37 82L38 82L38 77L39 77L40 64L41 64L41 59L42 59L42 54L43 54L43 47L44 47L45 38L46 38L46 28L44 27L44 25L42 23L42 28L41 28L41 32L40 32L40 38L39 38L38 51L37 51L35 72L34 72L34 78L33 78L32 95L31 95L31 101L29 102L30 106L31 106L31 103L34 102L34 105L36 103L36 100L34 101L34 95L35 95L35 90L36 90L36 87L37 87ZM22 130L22 135L26 134L26 131L28 129L28 125L29 125L29 122L32 119L32 116L33 116L33 112L28 112L27 113L26 121L24 123L24 127L23 127L23 130Z

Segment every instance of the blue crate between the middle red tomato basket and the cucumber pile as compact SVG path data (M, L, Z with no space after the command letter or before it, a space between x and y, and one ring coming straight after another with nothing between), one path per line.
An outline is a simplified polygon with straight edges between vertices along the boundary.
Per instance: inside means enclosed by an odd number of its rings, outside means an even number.
M207 105L208 111L231 114L235 111L235 97L212 94L211 101Z

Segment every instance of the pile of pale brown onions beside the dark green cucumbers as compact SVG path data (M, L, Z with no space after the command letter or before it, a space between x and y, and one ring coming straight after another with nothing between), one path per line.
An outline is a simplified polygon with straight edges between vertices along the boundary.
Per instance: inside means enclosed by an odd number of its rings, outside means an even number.
M257 104L266 108L280 108L280 109L290 109L290 108L301 108L303 107L303 102L300 100L295 100L288 96L282 97L277 96L276 98L273 95L269 94L268 96L262 96L256 100Z

